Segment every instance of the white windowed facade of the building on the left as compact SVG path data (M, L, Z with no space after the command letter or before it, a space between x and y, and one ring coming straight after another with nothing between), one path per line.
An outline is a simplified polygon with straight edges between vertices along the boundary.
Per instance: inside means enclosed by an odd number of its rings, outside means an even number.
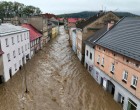
M22 35L23 41L21 41L21 35ZM17 40L17 36L19 36L19 42ZM25 36L26 36L26 40L25 40ZM14 44L12 44L12 37L14 38ZM9 44L8 47L6 46L5 39L8 39L8 44ZM26 55L29 54L29 58L30 58L29 31L24 31L24 32L16 33L16 34L2 36L2 37L0 37L0 40L1 40L1 48L4 52L4 54L3 54L4 80L6 82L10 79L9 68L12 68L12 75L14 75L19 70L19 66L20 66L19 62L21 61L21 64L23 64L22 57L25 57ZM25 45L27 45L27 50L25 50ZM23 53L22 53L22 46L24 49ZM18 52L18 48L20 48L20 55ZM15 58L13 56L14 50L15 50L15 54L16 54ZM8 53L10 54L10 61L8 61L8 58L7 58ZM26 58L24 58L24 59L26 62ZM15 64L16 64L17 70L15 70Z

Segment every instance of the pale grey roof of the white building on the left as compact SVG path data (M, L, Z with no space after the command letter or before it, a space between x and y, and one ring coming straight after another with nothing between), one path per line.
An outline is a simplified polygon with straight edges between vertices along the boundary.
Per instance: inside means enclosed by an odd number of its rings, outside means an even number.
M27 31L28 29L21 26L15 26L10 23L3 23L0 25L0 36Z

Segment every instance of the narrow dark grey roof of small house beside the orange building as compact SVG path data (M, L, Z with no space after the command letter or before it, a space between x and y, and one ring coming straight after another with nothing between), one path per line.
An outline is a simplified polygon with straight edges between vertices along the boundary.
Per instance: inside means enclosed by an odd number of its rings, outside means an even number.
M100 30L96 31L93 35L89 36L86 40L85 43L91 47L95 45L96 40L100 38L105 32L107 31L107 25L105 25L103 28Z

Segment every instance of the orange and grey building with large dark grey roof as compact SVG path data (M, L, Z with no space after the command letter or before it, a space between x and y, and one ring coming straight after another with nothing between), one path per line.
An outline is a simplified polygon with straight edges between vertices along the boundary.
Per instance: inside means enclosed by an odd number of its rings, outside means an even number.
M140 18L124 18L98 39L94 78L124 110L140 110Z

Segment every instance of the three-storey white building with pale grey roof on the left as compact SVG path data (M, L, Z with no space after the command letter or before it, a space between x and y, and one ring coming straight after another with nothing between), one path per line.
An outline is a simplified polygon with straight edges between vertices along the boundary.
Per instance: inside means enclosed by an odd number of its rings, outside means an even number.
M30 58L29 30L12 24L0 24L4 81L7 82Z

